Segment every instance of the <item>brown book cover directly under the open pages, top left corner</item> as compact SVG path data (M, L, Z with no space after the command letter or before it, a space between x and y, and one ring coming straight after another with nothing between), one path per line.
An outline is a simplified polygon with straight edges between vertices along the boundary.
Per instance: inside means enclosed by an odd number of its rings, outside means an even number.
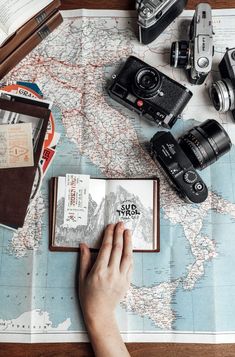
M43 10L38 12L32 19L27 21L18 31L16 31L8 40L0 47L0 64L27 40L48 18L50 18L60 7L60 0L54 0Z

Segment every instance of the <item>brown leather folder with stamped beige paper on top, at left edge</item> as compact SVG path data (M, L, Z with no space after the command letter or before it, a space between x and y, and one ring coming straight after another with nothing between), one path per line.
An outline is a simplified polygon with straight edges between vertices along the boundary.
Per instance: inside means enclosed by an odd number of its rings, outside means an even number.
M0 224L23 226L44 152L51 103L0 91Z

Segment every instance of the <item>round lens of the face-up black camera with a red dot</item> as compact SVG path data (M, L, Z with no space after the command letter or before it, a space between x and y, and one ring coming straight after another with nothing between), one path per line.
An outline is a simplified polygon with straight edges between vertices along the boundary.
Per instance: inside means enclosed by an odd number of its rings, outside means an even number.
M159 72L153 67L145 67L136 73L133 91L140 98L151 98L158 93L160 86Z

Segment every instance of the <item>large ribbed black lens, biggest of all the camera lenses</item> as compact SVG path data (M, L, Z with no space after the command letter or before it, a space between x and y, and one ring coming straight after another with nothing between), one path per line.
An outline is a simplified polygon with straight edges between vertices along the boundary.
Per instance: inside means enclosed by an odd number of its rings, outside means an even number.
M213 119L194 127L179 140L179 144L195 169L203 170L231 149L224 128Z

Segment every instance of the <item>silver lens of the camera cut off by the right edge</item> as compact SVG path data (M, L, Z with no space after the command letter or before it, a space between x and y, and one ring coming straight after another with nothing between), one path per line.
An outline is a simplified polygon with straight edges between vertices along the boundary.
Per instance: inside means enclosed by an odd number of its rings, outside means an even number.
M235 109L234 88L230 79L213 83L210 96L218 112L226 113L228 110Z

